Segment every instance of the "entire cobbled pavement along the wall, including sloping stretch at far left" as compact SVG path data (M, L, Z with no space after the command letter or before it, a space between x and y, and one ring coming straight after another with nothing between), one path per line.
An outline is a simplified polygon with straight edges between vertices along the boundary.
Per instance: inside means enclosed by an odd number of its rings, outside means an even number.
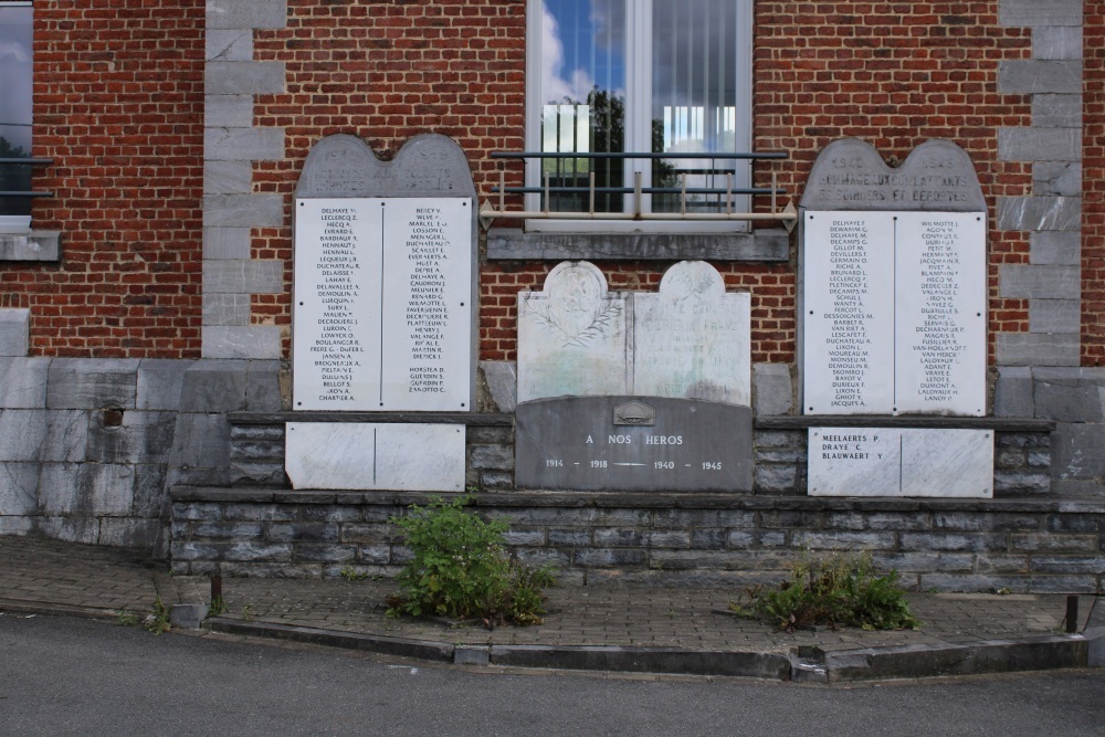
M0 537L0 609L3 600L70 607L148 611L154 578L164 564L133 550L54 540ZM207 593L206 579L196 590ZM180 589L178 581L177 589ZM561 587L549 590L549 613L537 627L450 627L439 621L385 615L396 586L387 580L224 579L227 617L299 627L387 634L460 644L636 645L707 651L783 652L798 646L874 647L970 642L1055 634L1064 596L911 594L919 631L781 632L770 624L724 613L730 589ZM1083 597L1083 623L1093 604ZM1081 628L1080 628L1081 629Z

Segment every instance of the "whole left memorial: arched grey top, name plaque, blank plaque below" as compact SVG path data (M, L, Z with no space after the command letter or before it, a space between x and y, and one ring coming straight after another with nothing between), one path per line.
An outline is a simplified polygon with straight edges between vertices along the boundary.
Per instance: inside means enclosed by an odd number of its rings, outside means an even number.
M449 138L417 136L387 162L352 136L319 141L295 192L293 409L470 411L475 228ZM464 486L463 425L296 422L286 439L296 488Z

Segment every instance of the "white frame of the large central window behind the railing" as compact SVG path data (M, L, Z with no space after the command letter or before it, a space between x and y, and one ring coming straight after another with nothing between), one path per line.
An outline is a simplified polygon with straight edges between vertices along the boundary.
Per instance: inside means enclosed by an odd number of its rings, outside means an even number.
M737 40L734 49L734 73L736 75L736 148L750 151L753 144L753 25L755 3L753 0L730 0L737 4ZM541 150L541 21L543 0L527 0L526 4L526 130L527 151ZM653 0L625 0L625 150L650 151L652 149L652 18ZM635 42L633 42L635 40ZM644 94L642 94L642 91ZM674 157L673 157L674 158ZM627 159L625 182L633 182L633 172L641 171L643 186L649 187L652 166L648 159ZM734 169L734 188L751 186L751 162L737 162ZM541 183L541 160L526 159L525 180L527 187ZM629 186L632 186L631 183ZM525 209L538 211L541 208L539 193L525 194ZM650 194L642 194L642 210L651 212ZM734 197L734 211L749 211L750 196ZM625 197L625 211L632 211L632 196ZM747 221L688 221L688 220L571 220L532 219L526 221L530 232L654 232L654 233L732 233L748 232Z

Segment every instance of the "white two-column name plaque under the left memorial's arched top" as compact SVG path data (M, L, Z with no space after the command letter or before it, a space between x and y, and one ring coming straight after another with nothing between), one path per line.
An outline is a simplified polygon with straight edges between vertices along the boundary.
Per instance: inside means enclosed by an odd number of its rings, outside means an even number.
M470 410L471 326L469 200L296 200L295 409Z

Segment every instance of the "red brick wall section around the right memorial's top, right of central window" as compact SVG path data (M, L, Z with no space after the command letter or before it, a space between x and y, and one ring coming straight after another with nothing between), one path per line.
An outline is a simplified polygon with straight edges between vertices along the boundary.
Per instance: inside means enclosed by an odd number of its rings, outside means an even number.
M818 151L838 138L862 138L891 162L930 138L962 146L990 212L992 362L994 333L1029 329L1028 302L997 296L998 266L1028 263L1028 236L996 231L993 219L998 197L1032 191L1030 164L997 160L998 127L1031 123L1028 96L998 94L998 64L1030 57L1031 35L998 27L997 0L835 8L756 3L755 147L790 152L780 182L797 200Z

